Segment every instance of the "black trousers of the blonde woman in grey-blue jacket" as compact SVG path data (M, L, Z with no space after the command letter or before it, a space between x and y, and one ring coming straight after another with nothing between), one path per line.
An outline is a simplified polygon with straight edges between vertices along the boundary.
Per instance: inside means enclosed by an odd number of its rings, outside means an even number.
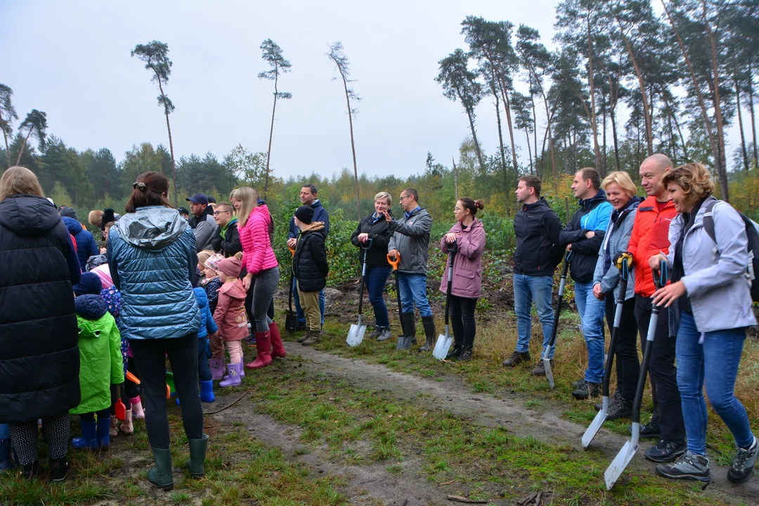
M606 322L609 332L614 332L614 313L616 300L609 294L606 296ZM635 399L635 387L638 385L638 374L641 363L638 360L638 322L635 320L635 298L625 300L622 304L622 318L619 320L619 332L616 341L614 360L617 369L617 390L625 401Z

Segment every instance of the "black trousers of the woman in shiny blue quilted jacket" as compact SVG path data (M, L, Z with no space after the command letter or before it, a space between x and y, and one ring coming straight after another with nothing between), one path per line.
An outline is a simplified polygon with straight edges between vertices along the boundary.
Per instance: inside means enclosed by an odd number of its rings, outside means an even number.
M187 439L203 438L203 408L197 389L197 334L176 339L129 341L145 400L145 426L150 446L168 449L166 414L166 359L172 364L174 385L181 398L182 423Z

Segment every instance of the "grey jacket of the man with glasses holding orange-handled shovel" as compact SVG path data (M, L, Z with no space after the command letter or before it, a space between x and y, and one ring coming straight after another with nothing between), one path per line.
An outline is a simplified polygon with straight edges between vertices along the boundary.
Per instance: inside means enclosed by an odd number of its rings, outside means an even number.
M387 250L401 253L398 272L427 274L427 250L432 230L432 216L427 209L417 207L411 213L403 213L403 218L393 220L389 225L395 233L390 237Z

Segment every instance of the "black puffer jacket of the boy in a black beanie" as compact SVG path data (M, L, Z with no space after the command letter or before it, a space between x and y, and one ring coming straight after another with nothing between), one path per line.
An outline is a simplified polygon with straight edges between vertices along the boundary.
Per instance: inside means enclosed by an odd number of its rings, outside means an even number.
M301 291L320 291L327 284L329 262L324 239L322 222L311 223L298 237L292 257L292 272L298 278L298 288Z

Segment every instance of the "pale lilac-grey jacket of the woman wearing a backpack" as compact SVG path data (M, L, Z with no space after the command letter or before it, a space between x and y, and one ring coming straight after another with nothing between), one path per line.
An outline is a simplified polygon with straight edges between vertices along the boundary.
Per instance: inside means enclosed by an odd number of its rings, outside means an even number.
M710 203L716 244L704 229L704 214ZM669 225L669 244L677 244L685 229L679 214ZM667 255L674 264L675 248ZM698 332L756 325L751 303L751 281L746 278L748 236L743 218L728 203L707 198L696 213L682 243L682 266L686 295L691 303Z

